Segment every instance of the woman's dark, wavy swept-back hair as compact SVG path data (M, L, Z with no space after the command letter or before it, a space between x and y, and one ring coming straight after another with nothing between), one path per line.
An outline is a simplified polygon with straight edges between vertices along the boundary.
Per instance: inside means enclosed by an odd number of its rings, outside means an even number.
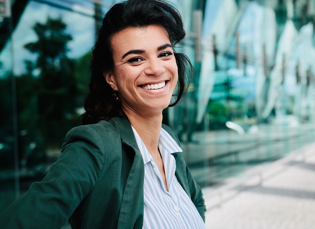
M121 103L114 100L113 90L103 75L103 72L110 72L114 67L111 38L128 27L149 25L164 27L173 47L186 35L178 10L163 0L128 0L115 4L106 13L93 48L89 94L84 100L86 112L80 116L83 125L124 116ZM172 101L175 101L169 106L178 103L193 77L193 67L188 57L175 52L174 56L178 67L177 94L173 95Z

